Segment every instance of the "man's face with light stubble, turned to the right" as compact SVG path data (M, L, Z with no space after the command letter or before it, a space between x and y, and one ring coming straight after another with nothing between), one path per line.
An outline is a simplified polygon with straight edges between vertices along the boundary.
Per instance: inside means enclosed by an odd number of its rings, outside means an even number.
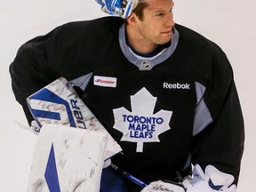
M138 32L151 44L166 44L172 38L174 25L172 0L148 0L143 17L138 20Z

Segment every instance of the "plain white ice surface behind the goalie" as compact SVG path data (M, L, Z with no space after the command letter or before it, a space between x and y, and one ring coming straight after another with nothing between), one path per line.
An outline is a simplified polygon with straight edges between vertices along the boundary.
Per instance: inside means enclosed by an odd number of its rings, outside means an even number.
M177 23L212 39L227 53L245 122L245 150L238 192L254 191L256 166L256 2L255 0L176 0ZM60 24L105 16L93 0L2 0L0 4L0 190L25 192L36 135L15 101L9 65L21 44ZM103 33L103 32L102 32ZM255 186L255 185L254 185Z

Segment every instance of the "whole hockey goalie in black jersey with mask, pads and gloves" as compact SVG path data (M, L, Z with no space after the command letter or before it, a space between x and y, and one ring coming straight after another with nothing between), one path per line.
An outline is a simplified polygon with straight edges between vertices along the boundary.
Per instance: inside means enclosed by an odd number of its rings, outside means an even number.
M225 52L175 23L172 0L96 1L110 15L29 40L10 67L38 133L28 191L235 192L244 119Z

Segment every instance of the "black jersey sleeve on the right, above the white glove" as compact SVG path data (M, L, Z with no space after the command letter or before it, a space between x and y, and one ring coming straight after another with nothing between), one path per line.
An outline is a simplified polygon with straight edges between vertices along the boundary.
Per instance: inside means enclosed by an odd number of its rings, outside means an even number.
M244 150L243 114L228 59L217 45L212 49L212 74L203 96L212 123L194 136L191 161L203 168L212 164L232 174L237 183Z

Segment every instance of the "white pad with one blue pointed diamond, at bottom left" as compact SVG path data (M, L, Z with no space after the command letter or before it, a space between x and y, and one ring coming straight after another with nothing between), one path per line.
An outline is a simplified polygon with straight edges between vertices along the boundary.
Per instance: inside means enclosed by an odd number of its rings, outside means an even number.
M44 124L37 138L27 191L100 191L107 142L104 132Z

